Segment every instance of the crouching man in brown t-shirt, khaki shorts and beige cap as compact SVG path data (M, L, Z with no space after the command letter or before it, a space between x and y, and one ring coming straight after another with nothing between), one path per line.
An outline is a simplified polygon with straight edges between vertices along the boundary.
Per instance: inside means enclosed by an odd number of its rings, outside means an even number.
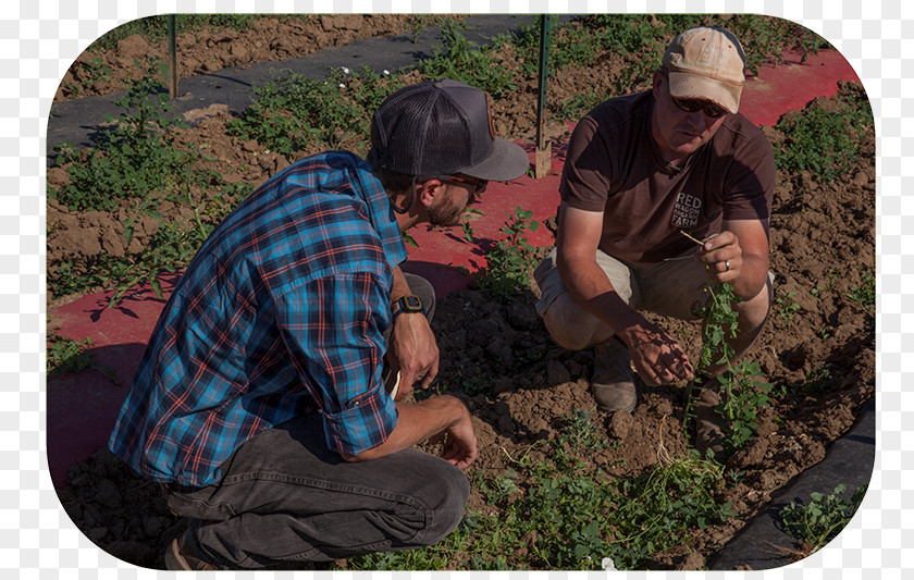
M640 310L696 319L708 281L729 282L741 298L737 356L768 314L775 163L765 136L738 113L744 67L729 32L687 30L651 90L598 104L571 135L536 308L559 345L596 345L591 384L603 410L634 408L632 365L650 386L694 378L682 347ZM696 446L720 456L718 398L707 386Z

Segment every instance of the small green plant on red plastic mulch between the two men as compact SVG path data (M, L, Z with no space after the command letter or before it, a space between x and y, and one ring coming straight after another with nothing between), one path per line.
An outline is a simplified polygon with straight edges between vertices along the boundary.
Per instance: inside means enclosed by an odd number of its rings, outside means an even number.
M533 251L534 248L527 240L526 232L535 232L540 227L540 222L530 219L533 212L520 206L514 215L507 213L507 217L508 221L502 227L507 237L485 254L487 267L477 276L480 289L501 298L530 285L527 279L530 262L524 252Z

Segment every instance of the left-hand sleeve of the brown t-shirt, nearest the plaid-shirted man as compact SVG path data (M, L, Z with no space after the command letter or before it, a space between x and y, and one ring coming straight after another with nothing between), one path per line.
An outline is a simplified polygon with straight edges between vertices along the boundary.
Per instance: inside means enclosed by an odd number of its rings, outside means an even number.
M584 116L571 133L561 172L561 202L584 211L603 211L609 193L610 156L596 121Z

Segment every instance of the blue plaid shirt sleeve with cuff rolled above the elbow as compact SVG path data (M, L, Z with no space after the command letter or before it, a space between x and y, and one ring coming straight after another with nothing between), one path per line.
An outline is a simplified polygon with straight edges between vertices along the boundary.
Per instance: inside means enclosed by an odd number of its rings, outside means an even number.
M322 411L326 445L337 453L380 445L397 422L381 381L382 332L390 324L383 287L368 272L335 274L277 299L283 341Z

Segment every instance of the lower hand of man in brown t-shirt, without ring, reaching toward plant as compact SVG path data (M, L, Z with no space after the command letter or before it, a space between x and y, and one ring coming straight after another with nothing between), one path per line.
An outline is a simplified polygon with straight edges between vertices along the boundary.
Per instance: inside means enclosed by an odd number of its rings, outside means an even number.
M638 375L649 386L694 379L692 363L679 343L646 320L626 328L619 337L629 347Z

